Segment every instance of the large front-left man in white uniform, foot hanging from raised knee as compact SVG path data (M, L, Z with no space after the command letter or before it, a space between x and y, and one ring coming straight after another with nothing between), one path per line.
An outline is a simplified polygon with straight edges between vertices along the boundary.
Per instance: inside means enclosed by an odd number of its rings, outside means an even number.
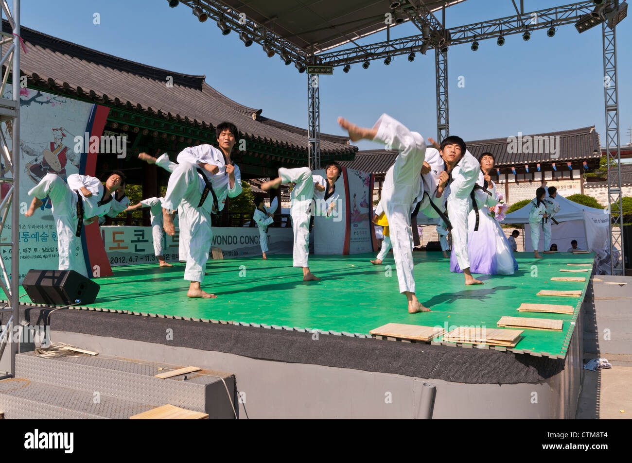
M164 231L169 236L176 233L171 212L178 205L182 206L180 226L184 219L189 229L185 280L191 282L186 293L190 298L216 297L200 288L213 236L210 213L224 208L226 196L234 198L241 193L240 170L230 157L238 131L232 123L221 123L216 132L220 149L198 145L178 154L178 166L169 177L162 203Z

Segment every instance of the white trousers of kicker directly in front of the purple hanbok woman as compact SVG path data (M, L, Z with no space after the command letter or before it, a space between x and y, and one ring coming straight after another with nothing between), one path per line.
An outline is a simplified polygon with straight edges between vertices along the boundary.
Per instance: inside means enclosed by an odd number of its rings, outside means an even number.
M461 269L470 268L468 256L468 215L472 207L471 194L480 173L478 160L465 150L451 172L450 193L447 196L447 216L452 225L452 246ZM486 194L486 193L484 193ZM477 200L478 201L478 200Z

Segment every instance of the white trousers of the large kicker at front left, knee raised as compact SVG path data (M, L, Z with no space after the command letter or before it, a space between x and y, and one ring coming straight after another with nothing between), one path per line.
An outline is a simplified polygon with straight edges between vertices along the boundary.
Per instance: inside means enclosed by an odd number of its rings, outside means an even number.
M209 260L210 244L213 238L210 212L197 207L201 198L200 177L195 165L189 162L178 164L169 177L167 194L162 207L171 210L178 205L182 207L179 226L181 230L186 228L189 231L186 238L180 234L180 241L188 250L185 280L198 282L204 281L204 269ZM183 227L183 221L186 224L185 227Z

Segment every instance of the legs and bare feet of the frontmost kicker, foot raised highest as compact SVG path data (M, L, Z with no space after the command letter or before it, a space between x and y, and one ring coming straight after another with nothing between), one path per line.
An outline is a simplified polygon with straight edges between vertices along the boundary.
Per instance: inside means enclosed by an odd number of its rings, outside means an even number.
M420 172L426 152L423 137L411 132L391 116L382 114L372 129L361 128L343 117L338 123L348 131L351 141L376 140L399 150L382 187L382 207L389 224L389 235L397 269L399 292L408 300L408 312L425 312L415 295L413 277L413 233L410 225L411 205L420 195Z

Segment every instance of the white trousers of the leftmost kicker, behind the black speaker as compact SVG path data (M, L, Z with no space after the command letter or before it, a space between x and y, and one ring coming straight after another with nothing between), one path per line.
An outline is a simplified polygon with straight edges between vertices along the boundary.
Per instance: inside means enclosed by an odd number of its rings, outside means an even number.
M59 270L75 270L88 277L85 261L80 253L81 239L75 236L78 225L76 194L61 177L46 174L40 183L30 189L28 195L40 200L44 200L46 196L51 198L52 217L57 229Z

